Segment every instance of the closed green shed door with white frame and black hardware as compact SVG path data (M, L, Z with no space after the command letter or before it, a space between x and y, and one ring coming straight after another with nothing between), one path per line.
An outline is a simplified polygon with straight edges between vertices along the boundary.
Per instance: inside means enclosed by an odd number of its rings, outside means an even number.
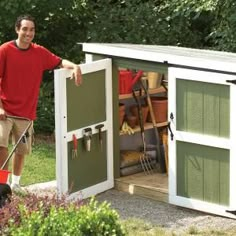
M169 202L235 218L227 211L236 210L236 76L168 73Z

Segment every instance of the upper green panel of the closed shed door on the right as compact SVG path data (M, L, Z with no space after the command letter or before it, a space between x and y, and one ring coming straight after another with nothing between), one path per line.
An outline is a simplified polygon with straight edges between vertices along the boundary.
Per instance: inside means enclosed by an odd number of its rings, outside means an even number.
M177 130L229 137L229 86L177 79Z

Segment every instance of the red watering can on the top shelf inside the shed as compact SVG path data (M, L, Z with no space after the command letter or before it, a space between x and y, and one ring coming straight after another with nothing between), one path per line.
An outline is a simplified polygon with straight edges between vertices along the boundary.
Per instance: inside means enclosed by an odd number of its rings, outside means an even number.
M143 75L143 71L139 70L137 74L133 77L133 73L130 70L120 70L119 71L119 93L127 94L132 93L132 88L137 83L137 81Z

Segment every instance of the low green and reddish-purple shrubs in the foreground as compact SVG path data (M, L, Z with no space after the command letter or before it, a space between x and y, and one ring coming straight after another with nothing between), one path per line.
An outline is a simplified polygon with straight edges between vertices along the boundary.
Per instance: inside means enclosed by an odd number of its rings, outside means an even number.
M56 196L15 196L0 216L1 235L125 235L117 212L107 202L98 204L94 198L82 204Z

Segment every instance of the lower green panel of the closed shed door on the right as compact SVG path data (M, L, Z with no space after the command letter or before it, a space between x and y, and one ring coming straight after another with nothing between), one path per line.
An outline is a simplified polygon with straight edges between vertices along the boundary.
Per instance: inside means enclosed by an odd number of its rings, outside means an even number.
M177 142L177 195L229 204L229 151Z

